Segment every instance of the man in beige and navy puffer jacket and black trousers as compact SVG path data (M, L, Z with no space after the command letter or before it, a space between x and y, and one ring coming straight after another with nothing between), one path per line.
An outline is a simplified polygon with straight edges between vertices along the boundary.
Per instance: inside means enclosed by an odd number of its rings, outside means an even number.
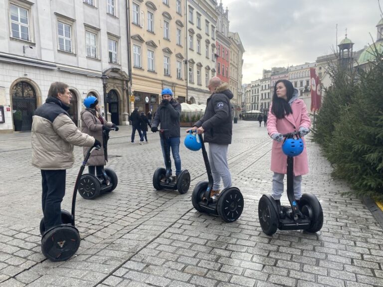
M66 169L74 162L73 146L100 144L81 133L69 117L68 87L64 83L52 83L45 104L36 109L32 122L32 165L41 169L46 231L62 224L61 201L65 195Z

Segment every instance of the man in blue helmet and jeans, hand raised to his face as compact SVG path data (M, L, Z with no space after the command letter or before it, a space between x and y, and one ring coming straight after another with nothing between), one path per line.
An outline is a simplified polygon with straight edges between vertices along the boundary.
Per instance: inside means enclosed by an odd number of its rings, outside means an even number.
M169 88L162 90L162 102L158 107L154 120L152 122L152 132L158 132L158 125L161 124L161 130L164 131L161 137L161 147L166 165L164 143L167 143L167 151L172 149L174 164L176 165L176 178L181 173L180 157L180 115L181 105L173 99L173 91ZM170 168L172 174L172 167Z

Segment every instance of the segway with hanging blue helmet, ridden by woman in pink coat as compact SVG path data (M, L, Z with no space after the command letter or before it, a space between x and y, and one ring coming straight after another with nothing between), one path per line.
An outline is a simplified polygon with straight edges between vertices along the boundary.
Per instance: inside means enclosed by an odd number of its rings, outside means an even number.
M258 203L259 223L262 231L273 235L280 230L306 230L311 233L321 230L323 225L322 206L313 194L304 193L297 202L294 196L294 156L303 151L299 132L283 135L282 150L287 155L287 198L290 206L278 206L269 194L263 194Z

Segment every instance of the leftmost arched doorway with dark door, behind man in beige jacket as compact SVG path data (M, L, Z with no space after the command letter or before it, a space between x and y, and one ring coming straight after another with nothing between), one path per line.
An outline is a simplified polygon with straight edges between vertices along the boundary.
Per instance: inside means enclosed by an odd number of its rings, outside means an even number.
M36 92L27 82L18 82L11 91L13 126L15 132L30 131L36 110Z

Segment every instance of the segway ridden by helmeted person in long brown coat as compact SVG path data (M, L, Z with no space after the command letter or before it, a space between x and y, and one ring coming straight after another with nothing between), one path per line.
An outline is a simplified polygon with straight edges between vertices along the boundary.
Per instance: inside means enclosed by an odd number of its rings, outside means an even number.
M114 128L110 129L114 130ZM102 131L105 160L108 161L109 131ZM94 199L101 192L111 192L118 184L117 174L110 168L102 168L101 175L83 174L78 186L78 193L85 199Z

